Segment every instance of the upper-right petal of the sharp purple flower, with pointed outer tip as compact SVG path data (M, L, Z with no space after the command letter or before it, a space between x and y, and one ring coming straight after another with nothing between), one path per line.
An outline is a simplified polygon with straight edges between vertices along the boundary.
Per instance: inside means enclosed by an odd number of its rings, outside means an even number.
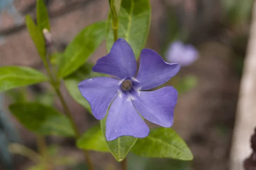
M136 79L142 84L142 90L153 89L169 81L179 70L178 63L166 63L157 52L143 49Z

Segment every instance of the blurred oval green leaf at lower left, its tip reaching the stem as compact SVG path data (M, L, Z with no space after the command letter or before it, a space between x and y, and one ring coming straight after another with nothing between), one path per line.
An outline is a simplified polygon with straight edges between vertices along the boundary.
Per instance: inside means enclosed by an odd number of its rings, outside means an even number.
M34 133L75 136L69 119L53 107L39 103L15 103L9 109L24 127Z

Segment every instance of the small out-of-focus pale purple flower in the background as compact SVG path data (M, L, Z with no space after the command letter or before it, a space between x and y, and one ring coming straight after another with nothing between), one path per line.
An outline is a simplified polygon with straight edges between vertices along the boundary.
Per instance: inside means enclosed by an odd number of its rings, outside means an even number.
M198 51L192 45L184 45L180 41L172 43L167 52L166 60L170 63L179 63L181 66L189 66L198 59Z

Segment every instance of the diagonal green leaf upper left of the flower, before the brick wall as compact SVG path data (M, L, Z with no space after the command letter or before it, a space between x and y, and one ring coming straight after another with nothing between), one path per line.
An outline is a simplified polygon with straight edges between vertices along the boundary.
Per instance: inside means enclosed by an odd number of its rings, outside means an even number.
M105 37L105 21L93 23L83 29L67 46L60 58L58 76L64 78L82 66Z

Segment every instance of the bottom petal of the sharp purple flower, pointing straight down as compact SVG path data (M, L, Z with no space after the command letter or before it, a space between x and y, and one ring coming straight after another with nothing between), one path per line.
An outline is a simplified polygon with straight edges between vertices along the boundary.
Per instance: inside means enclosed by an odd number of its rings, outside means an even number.
M109 109L106 139L112 141L123 135L145 138L148 133L148 125L137 113L131 100L124 101L117 96Z

